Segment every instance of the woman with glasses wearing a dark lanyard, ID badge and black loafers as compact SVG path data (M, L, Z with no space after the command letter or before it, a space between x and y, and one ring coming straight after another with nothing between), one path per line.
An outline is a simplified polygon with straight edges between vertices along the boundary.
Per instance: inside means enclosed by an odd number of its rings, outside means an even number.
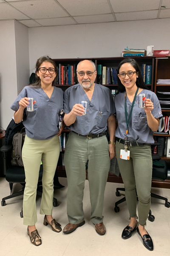
M125 185L125 196L130 213L130 223L122 232L122 239L128 239L137 230L144 246L153 250L153 241L145 230L150 210L150 189L152 181L151 143L153 132L158 130L162 118L161 107L155 93L147 89L139 66L134 59L126 58L119 64L119 94L115 98L118 127L116 156ZM144 108L138 106L138 95L146 94ZM136 192L139 199L136 220Z

